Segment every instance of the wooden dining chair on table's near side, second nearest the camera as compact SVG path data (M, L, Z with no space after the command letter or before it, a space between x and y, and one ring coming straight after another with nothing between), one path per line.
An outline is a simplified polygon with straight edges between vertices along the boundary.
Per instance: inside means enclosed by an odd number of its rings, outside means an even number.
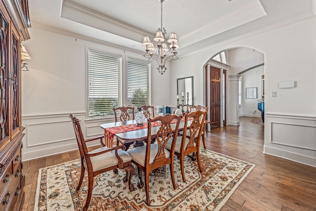
M195 111L185 114L184 128L188 127L188 120L193 119L192 123L187 130L183 130L182 136L177 136L175 146L173 142L168 141L166 149L178 156L180 159L180 168L183 182L186 182L184 174L184 157L190 154L195 154L197 160L197 166L200 172L202 172L200 157L199 157L199 144L204 127L205 112ZM187 132L189 134L187 134ZM174 149L173 149L174 148Z

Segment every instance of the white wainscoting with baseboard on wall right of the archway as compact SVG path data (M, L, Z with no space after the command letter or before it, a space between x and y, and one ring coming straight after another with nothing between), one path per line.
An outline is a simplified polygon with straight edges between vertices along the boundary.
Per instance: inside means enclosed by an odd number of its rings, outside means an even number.
M316 116L266 113L264 153L316 167Z

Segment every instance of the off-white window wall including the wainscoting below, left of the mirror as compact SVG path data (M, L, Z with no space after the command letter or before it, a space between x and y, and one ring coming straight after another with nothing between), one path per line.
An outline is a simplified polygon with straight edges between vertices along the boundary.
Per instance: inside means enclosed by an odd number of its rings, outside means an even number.
M75 35L35 27L29 31L31 39L22 43L32 58L28 60L30 71L22 72L22 125L26 127L24 160L78 149L70 113L81 120L83 134L88 138L103 134L100 125L114 121L87 120L87 47L121 55L122 74L126 74L127 57L143 59L141 53ZM170 67L167 66L163 75L156 68L154 64L151 71L152 105L170 105Z

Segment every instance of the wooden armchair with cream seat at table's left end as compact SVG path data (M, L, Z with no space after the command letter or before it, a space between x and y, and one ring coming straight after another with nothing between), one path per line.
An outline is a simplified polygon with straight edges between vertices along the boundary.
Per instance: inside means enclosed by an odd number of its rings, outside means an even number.
M74 126L81 159L81 173L77 190L79 190L81 187L84 177L84 171L87 170L88 172L88 193L83 211L86 211L90 204L93 189L93 177L100 173L112 169L125 169L126 175L123 178L123 182L128 181L129 190L133 191L135 188L131 183L131 179L134 172L134 167L131 163L131 156L127 152L122 150L125 147L123 145L120 145L108 148L103 143L104 136L84 139L80 127L80 121L73 114L70 114L70 119L72 120ZM98 139L100 139L101 146L95 150L88 151L86 142Z

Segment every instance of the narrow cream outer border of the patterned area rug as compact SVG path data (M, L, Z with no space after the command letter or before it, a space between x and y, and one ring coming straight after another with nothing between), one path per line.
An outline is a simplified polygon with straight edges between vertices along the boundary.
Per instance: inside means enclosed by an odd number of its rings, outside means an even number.
M234 194L234 192L236 191L236 189L239 187L239 185L241 184L241 182L243 182L243 180L249 175L249 173L256 167L255 164L252 164L252 163L249 163L249 162L246 162L246 161L243 161L243 160L240 160L240 159L237 159L237 158L234 158L234 157L231 157L231 156L228 156L228 155L225 155L225 154L222 154L222 153L219 153L219 152L215 152L215 151L211 151L209 149L204 149L204 148L200 148L201 150L204 150L204 151L209 151L211 153L215 153L217 155L221 155L221 156L225 156L225 157L228 157L228 158L231 158L231 159L234 159L234 160L237 160L237 161L240 161L240 162L243 162L243 163L247 163L249 165L252 165L250 169L247 170L247 172L238 180L238 182L236 183L236 185L231 189L231 191L229 192L229 194L226 195L226 197L218 204L218 206L216 206L216 208L213 210L213 211L219 211L222 209L222 207L226 204L226 202L231 198L231 196ZM64 162L64 163L60 163L60 164L56 164L56 165L53 165L53 166L48 166L48 167L43 167L43 168L40 168L39 169L39 172L38 172L38 181L37 181L37 185L36 185L36 194L35 194L35 201L34 201L34 211L38 211L39 210L39 196L40 196L40 188L39 185L40 185L40 180L41 180L41 172L42 172L42 169L47 169L47 168L51 168L51 167L55 167L55 166L59 166L59 165L65 165L67 163L72 163L72 162L78 162L80 161L80 159L75 159L75 160L72 160L72 161L67 161L67 162Z

